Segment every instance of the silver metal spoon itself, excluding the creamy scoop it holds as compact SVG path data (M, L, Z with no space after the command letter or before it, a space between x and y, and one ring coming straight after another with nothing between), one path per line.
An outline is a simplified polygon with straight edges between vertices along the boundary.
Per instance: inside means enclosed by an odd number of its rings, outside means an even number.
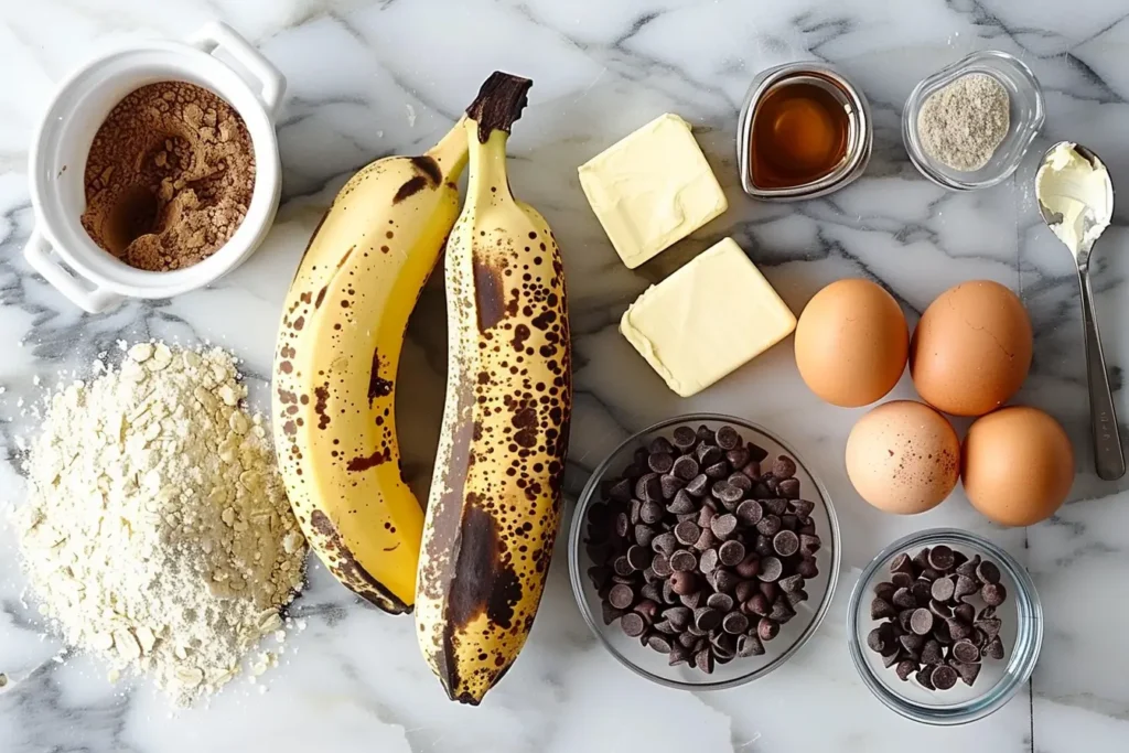
M1043 166L1048 165L1052 152L1062 145L1069 147L1069 142L1057 143L1043 155L1040 173ZM1082 287L1082 321L1086 333L1086 373L1089 382L1089 427L1094 438L1094 465L1097 475L1106 481L1120 479L1126 472L1124 452L1121 448L1121 432L1118 428L1118 415L1113 408L1113 395L1110 392L1110 380L1105 370L1105 356L1102 352L1102 340L1097 334L1097 314L1094 309L1094 292L1089 284L1089 253L1094 247L1094 242L1101 235L1105 226L1110 224L1113 216L1113 182L1110 180L1109 170L1102 160L1089 149L1080 145L1074 145L1074 150L1086 161L1088 161L1096 173L1104 176L1104 205L1095 207L1087 202L1087 210L1082 218L1084 231L1077 248L1071 247L1064 240L1064 245L1074 254L1078 266L1078 283ZM1053 211L1047 205L1051 201L1050 196L1041 195L1040 182L1036 178L1035 199L1039 201L1039 212L1043 216L1047 227L1060 225L1064 220L1061 213ZM1080 195L1071 196L1083 200ZM1097 228L1095 233L1091 233ZM1058 235L1058 233L1056 233Z

